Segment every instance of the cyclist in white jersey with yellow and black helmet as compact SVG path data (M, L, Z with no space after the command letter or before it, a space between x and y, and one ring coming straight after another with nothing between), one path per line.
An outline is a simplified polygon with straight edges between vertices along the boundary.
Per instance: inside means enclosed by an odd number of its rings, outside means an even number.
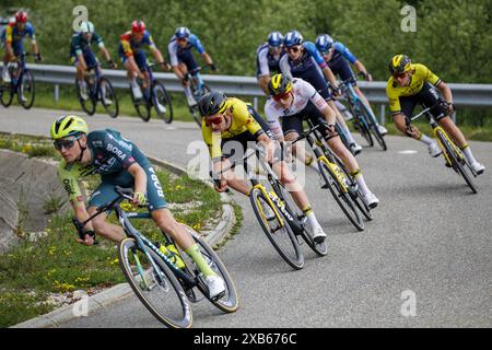
M343 161L351 175L358 182L362 191L363 200L370 208L377 207L379 200L365 184L362 171L353 154L344 147L335 133L336 114L326 103L325 98L302 79L292 79L286 74L276 74L268 83L271 98L265 104L265 114L268 118L270 130L274 132L278 140L292 141L303 132L303 119L309 118L315 125L328 122L326 138L328 145ZM280 124L279 119L282 119ZM295 147L295 144L294 144ZM293 153L301 155L300 160L309 163L311 158L305 151ZM312 162L312 161L311 161Z

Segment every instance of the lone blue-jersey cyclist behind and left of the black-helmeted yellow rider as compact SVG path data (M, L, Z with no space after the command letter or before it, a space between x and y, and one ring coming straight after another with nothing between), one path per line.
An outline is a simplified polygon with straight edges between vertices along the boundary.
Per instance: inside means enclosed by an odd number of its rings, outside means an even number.
M169 55L171 66L176 77L181 81L185 89L185 96L189 107L197 105L197 101L190 89L188 72L195 78L198 74L198 65L195 60L191 49L195 48L200 54L203 61L210 67L212 71L216 71L212 58L206 52L198 36L192 34L187 27L180 26L176 28L174 35L171 37L167 45L167 52Z

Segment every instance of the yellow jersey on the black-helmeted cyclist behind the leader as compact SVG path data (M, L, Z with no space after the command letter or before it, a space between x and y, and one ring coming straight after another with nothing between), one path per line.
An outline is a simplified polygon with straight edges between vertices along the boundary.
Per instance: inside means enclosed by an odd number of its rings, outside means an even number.
M201 122L201 133L203 141L209 147L210 156L212 160L221 159L222 156L222 140L232 139L244 132L249 132L256 140L258 136L266 132L258 120L255 118L250 107L243 101L229 97L225 102L226 110L232 114L231 127L223 132L213 132L212 126L207 126L204 120Z

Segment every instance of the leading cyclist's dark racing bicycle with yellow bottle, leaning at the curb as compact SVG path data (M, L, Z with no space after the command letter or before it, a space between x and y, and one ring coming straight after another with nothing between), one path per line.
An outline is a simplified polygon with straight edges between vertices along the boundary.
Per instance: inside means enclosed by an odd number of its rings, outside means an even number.
M118 259L121 270L142 304L161 323L171 328L189 328L192 325L191 303L207 298L213 305L225 313L233 313L238 307L237 292L225 266L213 249L192 229L184 225L200 248L206 261L225 283L225 292L215 298L209 296L203 276L194 261L184 254L172 237L163 233L165 247L152 243L140 233L130 219L151 219L149 212L126 212L120 203L132 199L131 188L115 186L118 197L97 211L84 222L73 219L81 238L84 237L85 224L106 211L115 211L119 224L127 237L118 244ZM201 293L201 298L199 298Z

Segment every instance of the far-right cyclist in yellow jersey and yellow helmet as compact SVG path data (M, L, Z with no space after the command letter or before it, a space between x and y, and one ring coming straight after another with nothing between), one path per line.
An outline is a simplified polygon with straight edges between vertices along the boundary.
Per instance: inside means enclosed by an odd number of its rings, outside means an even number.
M393 113L395 126L409 137L422 141L429 147L432 156L438 156L441 149L437 142L417 127L407 128L407 118L411 118L417 104L433 107L440 103L437 90L442 93L444 102L431 109L436 121L454 139L456 144L462 150L470 166L477 174L482 174L485 167L480 164L471 153L461 130L453 122L449 115L455 110L453 93L436 74L427 67L412 63L406 55L396 55L389 61L391 77L386 86L386 94L389 100L389 109Z

